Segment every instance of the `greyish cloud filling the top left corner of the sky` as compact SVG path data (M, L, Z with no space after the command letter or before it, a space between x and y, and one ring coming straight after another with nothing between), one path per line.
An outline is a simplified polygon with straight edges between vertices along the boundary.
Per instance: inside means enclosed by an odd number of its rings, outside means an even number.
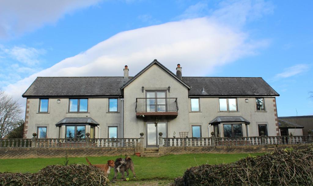
M14 37L39 28L46 23L55 23L64 14L95 5L99 1L0 1L0 38Z

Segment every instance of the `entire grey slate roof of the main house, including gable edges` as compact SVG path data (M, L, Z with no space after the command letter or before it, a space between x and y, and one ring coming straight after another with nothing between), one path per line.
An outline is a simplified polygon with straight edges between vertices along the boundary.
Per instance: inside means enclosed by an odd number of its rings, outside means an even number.
M23 97L90 97L122 96L121 87L126 87L153 64L170 73L177 81L186 85L189 96L279 96L262 78L257 77L182 77L156 59L136 76L123 77L37 77L22 95ZM203 92L204 89L204 92Z

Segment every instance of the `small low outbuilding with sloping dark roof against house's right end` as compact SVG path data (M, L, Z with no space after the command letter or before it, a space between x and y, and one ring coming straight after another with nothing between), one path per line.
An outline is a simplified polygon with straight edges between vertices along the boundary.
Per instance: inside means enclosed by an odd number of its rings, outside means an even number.
M291 123L289 121L282 120L278 118L278 126L280 131L280 136L303 136L302 129L303 126L297 125L295 123Z

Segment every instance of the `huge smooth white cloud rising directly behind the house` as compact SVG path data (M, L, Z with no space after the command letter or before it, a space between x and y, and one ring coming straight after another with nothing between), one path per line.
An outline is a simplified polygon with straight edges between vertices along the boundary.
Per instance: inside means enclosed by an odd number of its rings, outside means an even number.
M244 8L251 9L251 6ZM223 9L223 7L222 7ZM227 12L230 11L230 12ZM223 10L233 14L233 9ZM249 16L250 10L243 10ZM118 33L85 52L3 87L21 98L37 76L122 76L124 65L135 75L153 59L175 72L182 65L183 76L208 75L218 66L254 54L267 40L253 40L240 29L223 21L217 10L213 16L180 20ZM23 100L24 101L24 100Z

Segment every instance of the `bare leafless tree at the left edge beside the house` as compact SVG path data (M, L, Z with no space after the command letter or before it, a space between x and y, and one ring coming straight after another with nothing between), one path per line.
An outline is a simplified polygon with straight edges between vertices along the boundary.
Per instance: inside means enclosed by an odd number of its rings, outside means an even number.
M19 127L21 113L22 110L18 100L8 96L0 89L0 138L8 135L14 128Z

